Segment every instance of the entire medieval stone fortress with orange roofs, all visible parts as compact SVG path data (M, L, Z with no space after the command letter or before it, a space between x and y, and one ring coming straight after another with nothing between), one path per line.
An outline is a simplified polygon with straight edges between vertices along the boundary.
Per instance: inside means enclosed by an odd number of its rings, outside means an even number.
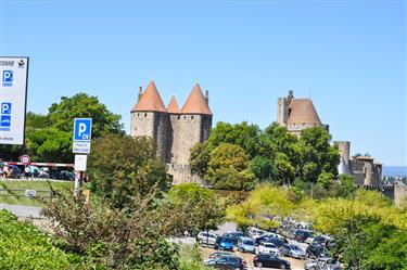
M136 105L131 110L130 134L150 137L156 145L157 156L167 165L173 183L203 183L189 167L191 149L198 142L205 142L212 128L212 111L208 105L208 92L202 93L196 83L182 107L171 98L165 106L155 83L151 81L142 91L140 87ZM322 124L310 99L295 99L292 91L285 98L277 100L277 123L288 131L300 136L301 130L310 127L329 126ZM370 156L351 157L351 142L334 142L341 154L338 166L340 175L353 175L356 184L366 189L380 190L397 204L407 194L402 185L384 187L382 165Z

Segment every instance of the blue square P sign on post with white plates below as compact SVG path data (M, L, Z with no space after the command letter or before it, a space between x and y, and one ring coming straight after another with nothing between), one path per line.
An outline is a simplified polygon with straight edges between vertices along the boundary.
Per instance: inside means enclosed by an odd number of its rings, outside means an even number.
M74 154L75 155L75 196L79 192L81 184L82 172L86 171L87 155L90 153L90 141L92 138L92 119L91 118L75 118L74 121ZM85 155L84 155L85 154Z

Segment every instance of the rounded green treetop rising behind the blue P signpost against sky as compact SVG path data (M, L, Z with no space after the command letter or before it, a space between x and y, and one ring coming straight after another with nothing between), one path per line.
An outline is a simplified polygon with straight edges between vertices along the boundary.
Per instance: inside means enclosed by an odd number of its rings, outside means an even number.
M73 132L74 118L92 118L92 138L124 133L120 116L110 112L97 97L86 93L62 97L61 102L52 104L48 111L50 125L62 131Z

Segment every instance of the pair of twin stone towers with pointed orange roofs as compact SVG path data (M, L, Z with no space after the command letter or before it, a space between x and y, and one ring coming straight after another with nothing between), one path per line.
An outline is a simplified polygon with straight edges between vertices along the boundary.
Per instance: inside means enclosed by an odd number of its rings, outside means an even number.
M138 101L130 113L130 134L152 138L156 154L167 164L174 184L202 183L198 176L191 175L189 157L192 146L209 137L213 114L207 91L204 97L196 83L181 108L175 97L165 106L151 81L144 91L140 87Z

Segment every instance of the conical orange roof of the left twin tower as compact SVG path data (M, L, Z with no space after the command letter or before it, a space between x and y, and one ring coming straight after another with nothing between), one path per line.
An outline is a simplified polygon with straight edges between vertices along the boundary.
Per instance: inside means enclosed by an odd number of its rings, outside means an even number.
M150 81L131 112L167 112L154 81Z

